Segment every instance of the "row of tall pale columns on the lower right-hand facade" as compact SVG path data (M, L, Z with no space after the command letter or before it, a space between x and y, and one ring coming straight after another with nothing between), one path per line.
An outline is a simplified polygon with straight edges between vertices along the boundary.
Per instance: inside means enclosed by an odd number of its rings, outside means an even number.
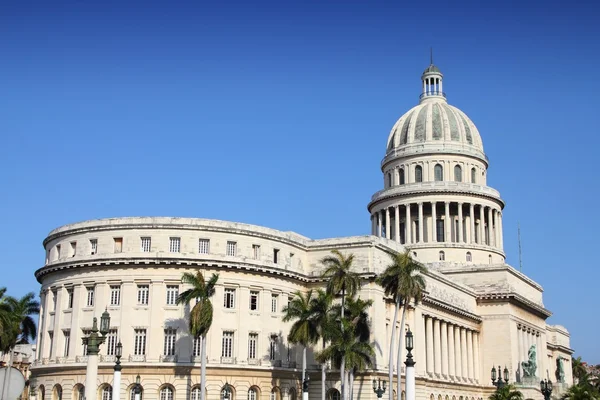
M479 332L429 315L423 324L427 374L479 382Z

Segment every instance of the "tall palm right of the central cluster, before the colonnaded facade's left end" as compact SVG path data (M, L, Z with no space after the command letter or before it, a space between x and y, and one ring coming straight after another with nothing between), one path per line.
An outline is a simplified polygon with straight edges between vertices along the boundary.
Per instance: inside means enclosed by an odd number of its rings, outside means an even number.
M402 371L402 352L404 350L404 320L406 318L406 309L411 301L418 303L423 297L425 290L425 279L423 274L427 272L427 268L421 263L413 260L410 251L406 250L403 253L392 252L390 254L391 263L385 271L377 278L377 282L383 287L385 294L391 296L394 300L396 308L394 310L394 319L392 322L392 334L390 335L390 351L389 351L389 381L390 385L394 381L394 330L398 321L398 311L402 305L402 318L400 320L400 338L398 339L397 349L397 365L396 372L398 379L396 381L396 397L400 400L402 394L401 371ZM389 399L393 400L394 391L390 389Z

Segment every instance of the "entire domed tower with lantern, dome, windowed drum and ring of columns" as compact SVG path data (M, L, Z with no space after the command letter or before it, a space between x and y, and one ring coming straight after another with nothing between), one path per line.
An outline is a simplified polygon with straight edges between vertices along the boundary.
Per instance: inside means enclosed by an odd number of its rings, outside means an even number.
M487 186L488 159L475 124L446 101L431 63L419 104L394 124L381 162L384 189L369 203L372 234L410 247L423 262L504 262L502 209Z

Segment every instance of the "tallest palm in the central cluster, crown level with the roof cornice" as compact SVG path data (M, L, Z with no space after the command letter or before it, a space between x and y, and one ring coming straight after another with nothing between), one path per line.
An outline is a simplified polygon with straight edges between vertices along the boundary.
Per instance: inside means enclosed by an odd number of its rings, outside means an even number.
M344 307L346 296L354 296L354 294L360 288L360 277L357 273L352 271L352 263L354 262L354 254L344 256L339 250L332 250L331 255L324 257L321 260L321 264L325 266L325 270L321 275L327 279L327 293L337 296L341 295L342 298L342 318L340 319L340 327L344 329ZM344 355L342 354L342 358ZM340 380L342 389L342 400L344 397L344 377L346 372L344 370L345 363L340 363Z

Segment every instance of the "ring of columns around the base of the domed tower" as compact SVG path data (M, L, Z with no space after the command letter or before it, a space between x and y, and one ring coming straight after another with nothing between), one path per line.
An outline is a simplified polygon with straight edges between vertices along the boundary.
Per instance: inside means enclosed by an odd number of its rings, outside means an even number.
M398 204L371 215L371 234L408 245L472 243L502 249L502 211L451 201Z

